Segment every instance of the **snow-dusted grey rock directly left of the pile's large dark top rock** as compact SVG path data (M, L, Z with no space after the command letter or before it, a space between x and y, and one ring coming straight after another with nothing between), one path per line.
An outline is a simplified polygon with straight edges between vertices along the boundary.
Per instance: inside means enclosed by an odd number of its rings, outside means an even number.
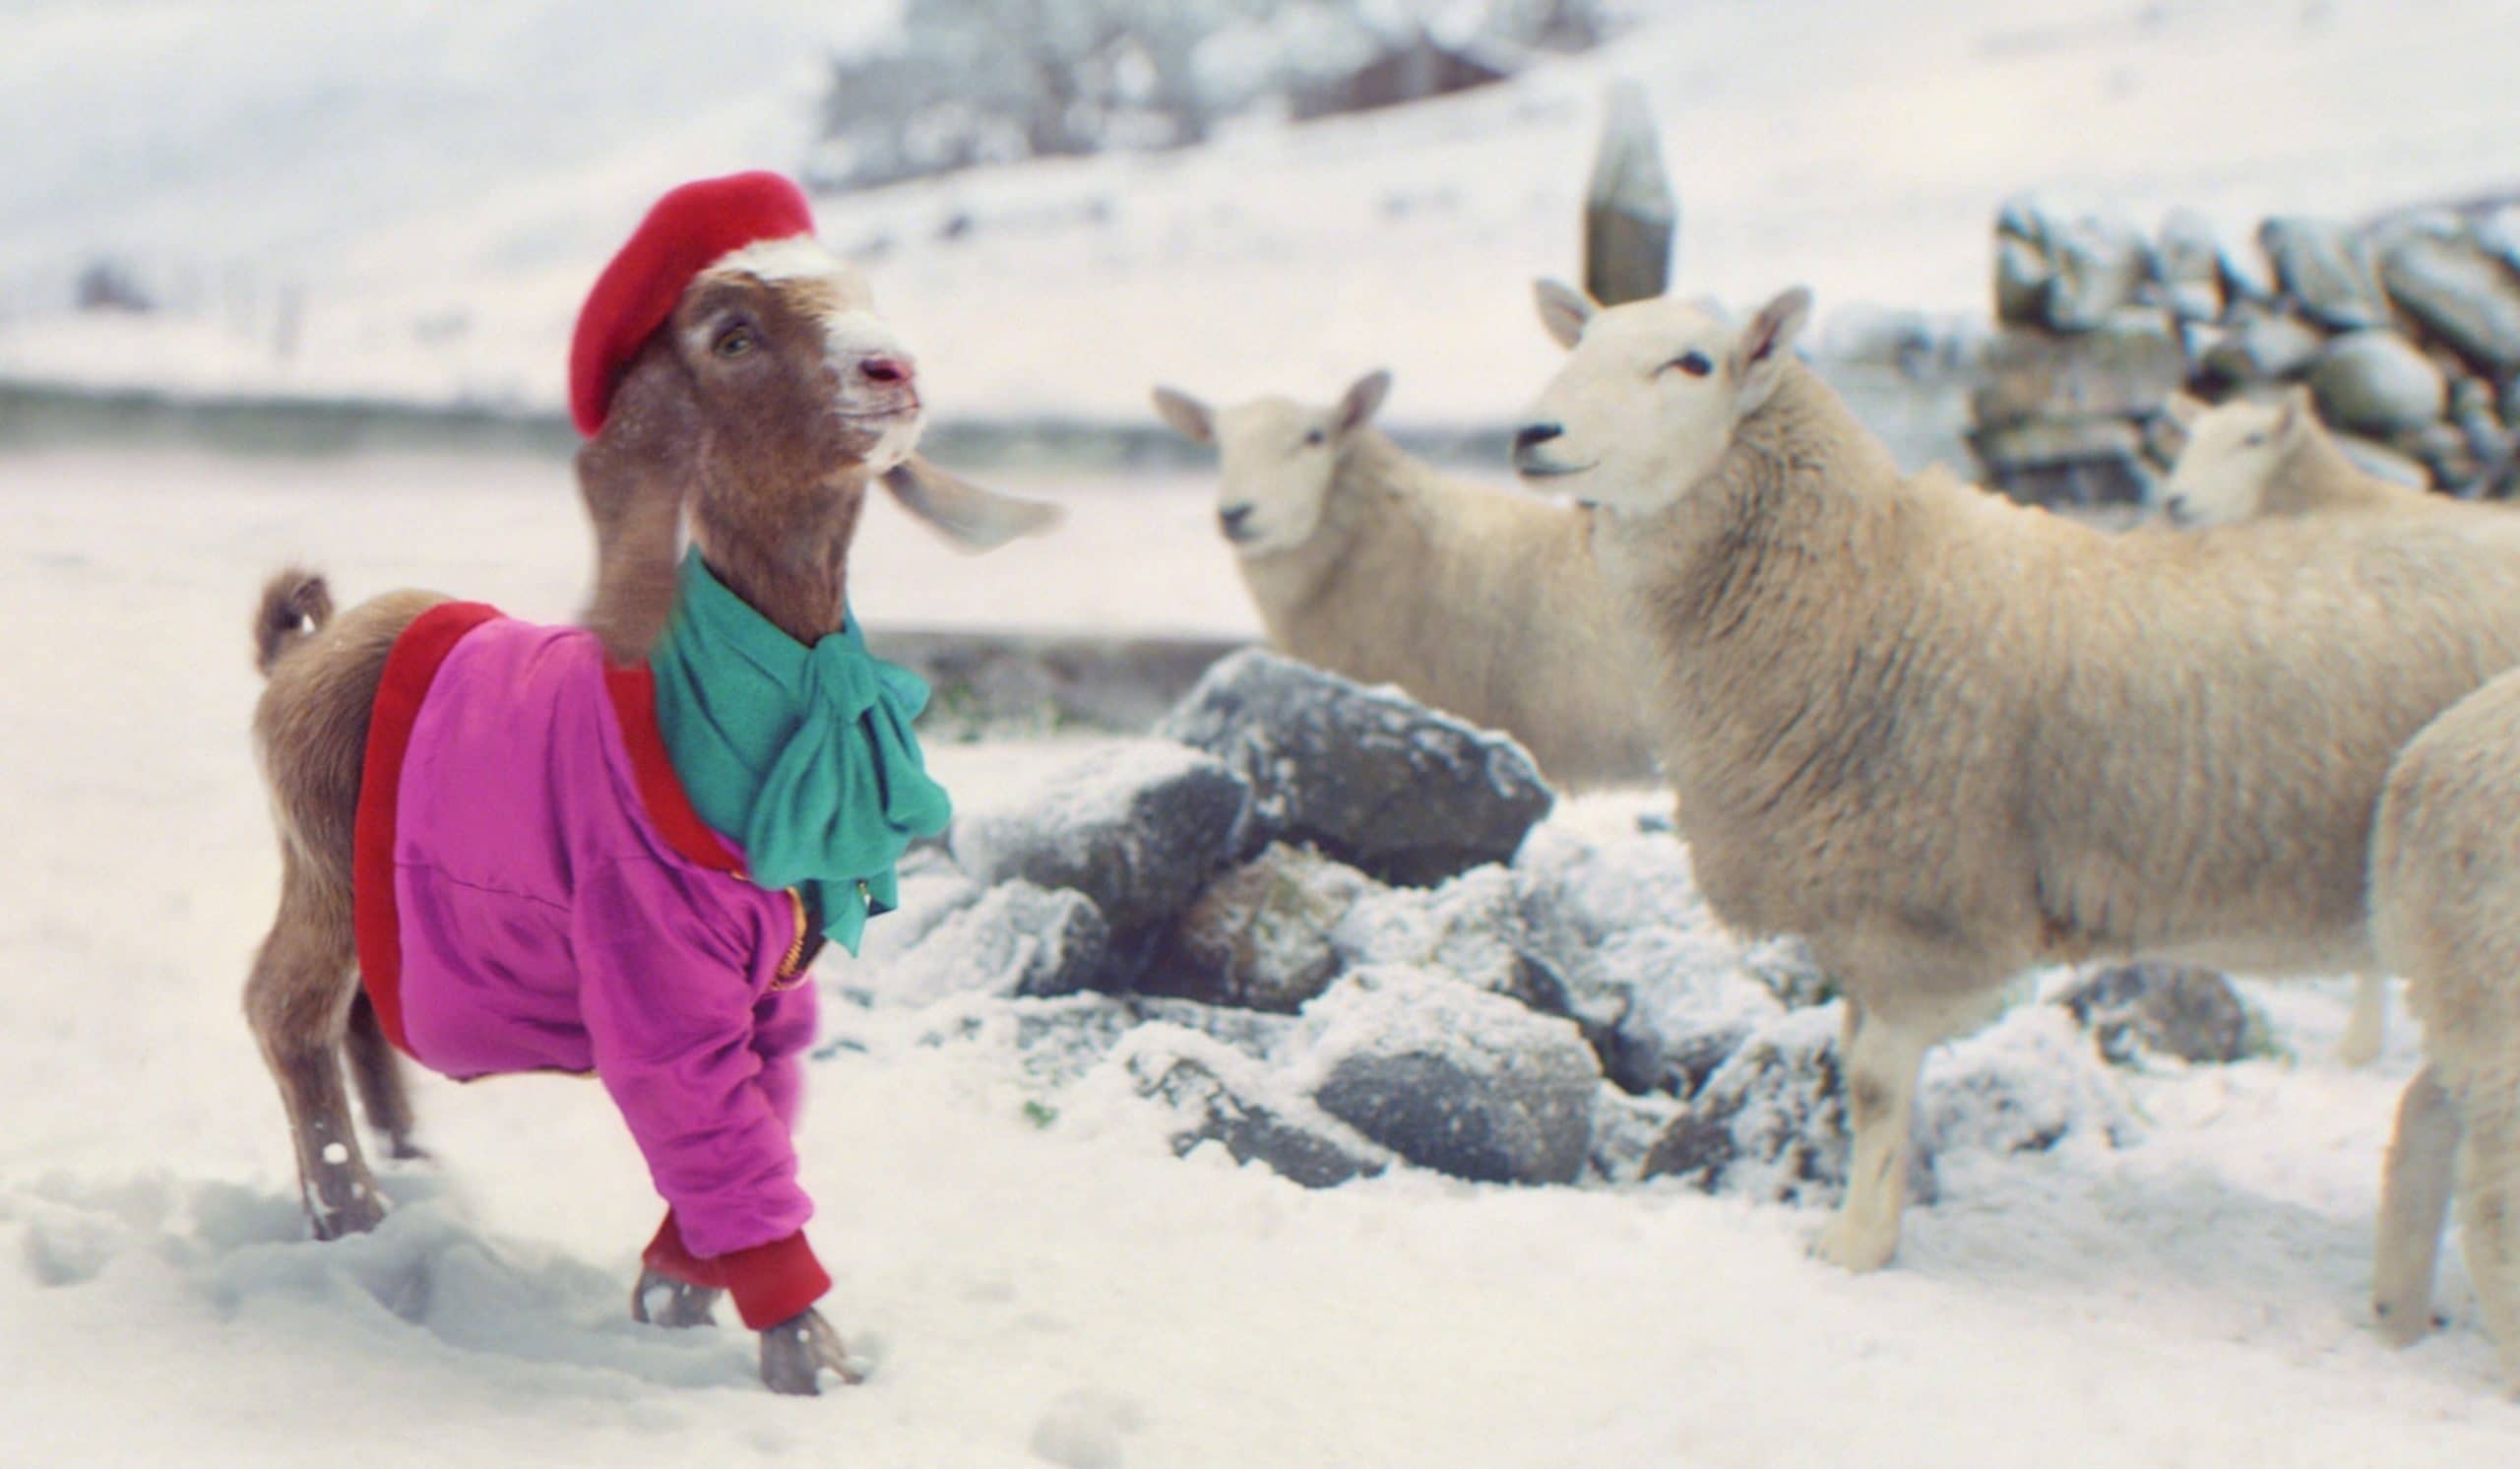
M1074 887L1121 940L1184 910L1235 852L1250 786L1222 761L1126 741L953 824L955 862L983 884Z

